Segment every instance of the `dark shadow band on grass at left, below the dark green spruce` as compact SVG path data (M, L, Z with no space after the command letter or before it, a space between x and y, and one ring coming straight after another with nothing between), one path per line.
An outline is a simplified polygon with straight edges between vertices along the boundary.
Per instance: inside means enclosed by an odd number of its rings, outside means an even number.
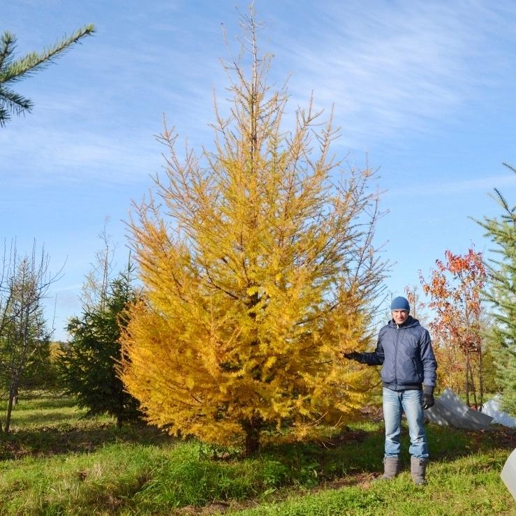
M119 429L114 422L81 420L0 435L0 460L88 453L110 443L165 445L173 441L156 427L128 424Z

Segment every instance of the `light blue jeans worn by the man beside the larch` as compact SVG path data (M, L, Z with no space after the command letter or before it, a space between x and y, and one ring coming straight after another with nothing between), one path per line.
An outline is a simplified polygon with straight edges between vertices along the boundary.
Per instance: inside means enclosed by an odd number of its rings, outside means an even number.
M405 413L411 447L408 451L418 459L428 458L425 416L421 408L422 391L383 388L383 419L385 420L385 457L399 457L401 448L401 414Z

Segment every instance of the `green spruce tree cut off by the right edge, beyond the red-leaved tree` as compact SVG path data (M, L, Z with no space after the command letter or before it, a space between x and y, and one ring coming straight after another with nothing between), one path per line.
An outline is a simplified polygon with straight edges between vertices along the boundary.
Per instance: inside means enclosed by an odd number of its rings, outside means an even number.
M506 166L516 172L515 168ZM503 392L503 408L516 415L516 205L510 206L498 189L494 193L501 215L485 217L479 222L495 244L492 251L499 257L488 264L490 288L485 295L494 306L493 354Z

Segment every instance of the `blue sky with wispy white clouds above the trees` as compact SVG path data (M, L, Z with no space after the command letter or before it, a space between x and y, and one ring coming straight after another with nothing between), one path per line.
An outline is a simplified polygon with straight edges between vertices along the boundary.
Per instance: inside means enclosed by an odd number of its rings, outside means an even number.
M17 84L34 111L0 128L0 236L27 252L44 244L52 270L55 337L80 314L84 274L107 231L126 262L131 202L162 174L154 135L163 113L179 140L213 142L212 94L226 95L220 59L237 52L239 0L17 0L0 30L17 55L86 23L96 34L57 64ZM428 276L445 249L489 244L471 217L499 212L493 187L513 202L516 175L516 3L513 1L257 0L260 48L274 54L272 82L288 82L290 112L334 105L334 152L379 168L389 210L377 244L394 263L395 295Z

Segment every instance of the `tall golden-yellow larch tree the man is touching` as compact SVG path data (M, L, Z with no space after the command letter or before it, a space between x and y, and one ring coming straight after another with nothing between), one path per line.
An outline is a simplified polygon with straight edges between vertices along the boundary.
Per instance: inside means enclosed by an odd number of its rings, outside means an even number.
M131 219L145 300L130 309L120 374L149 422L249 455L264 435L355 417L369 376L341 353L370 344L385 264L373 172L330 156L336 132L316 128L311 103L281 128L287 95L266 84L252 8L242 24L215 151L179 159L165 124L165 180Z

